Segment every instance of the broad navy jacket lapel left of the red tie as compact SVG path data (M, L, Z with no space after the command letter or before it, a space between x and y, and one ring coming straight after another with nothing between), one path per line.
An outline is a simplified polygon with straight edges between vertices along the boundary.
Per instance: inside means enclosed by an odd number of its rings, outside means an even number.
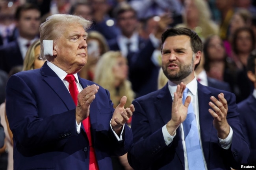
M76 106L74 101L65 87L63 81L59 79L59 77L54 73L49 66L45 64L41 68L41 74L43 76L43 80L52 88L52 90L59 96L59 98L65 103L69 110L74 109Z

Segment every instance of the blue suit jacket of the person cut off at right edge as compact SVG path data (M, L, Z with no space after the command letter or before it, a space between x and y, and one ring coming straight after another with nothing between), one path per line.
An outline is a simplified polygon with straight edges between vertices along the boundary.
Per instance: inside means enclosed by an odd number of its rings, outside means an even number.
M249 164L256 165L256 99L250 95L237 104L245 139L250 146Z

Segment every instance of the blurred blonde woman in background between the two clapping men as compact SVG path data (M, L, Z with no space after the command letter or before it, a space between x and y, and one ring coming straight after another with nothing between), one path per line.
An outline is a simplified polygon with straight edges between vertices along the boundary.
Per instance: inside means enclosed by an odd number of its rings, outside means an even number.
M119 104L122 96L127 97L126 103L131 103L135 98L131 82L128 78L127 60L119 51L108 51L102 55L96 66L94 82L109 90L114 108ZM128 104L124 106L129 107ZM128 122L129 126L132 117ZM131 170L132 167L127 161L127 154L120 157L112 157L114 170Z

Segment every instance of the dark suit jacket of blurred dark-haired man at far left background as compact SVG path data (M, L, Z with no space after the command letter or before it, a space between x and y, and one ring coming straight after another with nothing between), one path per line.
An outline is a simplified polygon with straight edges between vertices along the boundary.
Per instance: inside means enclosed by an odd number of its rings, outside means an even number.
M23 65L17 40L0 47L0 69L9 73L14 66Z

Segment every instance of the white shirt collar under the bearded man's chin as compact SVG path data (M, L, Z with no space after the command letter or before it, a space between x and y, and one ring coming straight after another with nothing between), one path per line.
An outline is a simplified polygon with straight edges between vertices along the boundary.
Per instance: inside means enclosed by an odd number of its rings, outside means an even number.
M197 79L196 78L194 78L191 82L186 84L186 87L188 88L188 90L190 91L190 93L192 95L197 95ZM177 89L177 84L168 80L168 88L169 88L169 91L171 93L171 96L174 97L173 94Z

